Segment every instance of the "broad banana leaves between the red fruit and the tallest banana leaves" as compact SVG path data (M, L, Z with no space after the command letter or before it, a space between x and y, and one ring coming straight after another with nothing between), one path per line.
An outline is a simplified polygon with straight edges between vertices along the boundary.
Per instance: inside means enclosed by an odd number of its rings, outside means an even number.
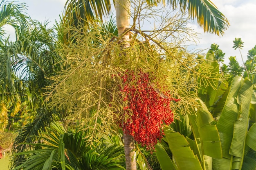
M213 117L202 100L202 109L188 115L193 139L184 137L169 127L164 128L172 156L169 157L161 143L156 147L157 159L162 170L211 170L212 158L221 158L221 144Z

